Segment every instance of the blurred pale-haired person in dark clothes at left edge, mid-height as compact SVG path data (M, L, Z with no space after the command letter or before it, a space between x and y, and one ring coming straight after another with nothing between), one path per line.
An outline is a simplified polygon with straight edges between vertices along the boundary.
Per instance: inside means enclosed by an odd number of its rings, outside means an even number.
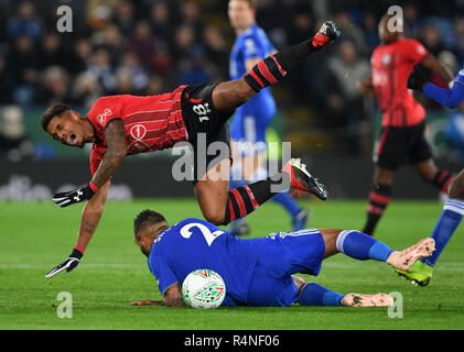
M32 144L25 135L21 108L4 107L0 112L0 155L19 162L32 154Z

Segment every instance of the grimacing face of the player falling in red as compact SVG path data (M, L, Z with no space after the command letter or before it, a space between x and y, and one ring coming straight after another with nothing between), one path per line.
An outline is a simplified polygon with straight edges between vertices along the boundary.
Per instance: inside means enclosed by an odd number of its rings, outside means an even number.
M55 141L62 144L84 146L84 129L80 117L75 111L66 111L61 117L54 117L46 130Z

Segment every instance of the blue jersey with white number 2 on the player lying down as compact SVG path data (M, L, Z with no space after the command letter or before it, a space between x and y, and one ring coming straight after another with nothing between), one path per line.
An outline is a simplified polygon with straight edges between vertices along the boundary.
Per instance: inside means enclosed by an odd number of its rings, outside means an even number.
M256 250L255 250L256 251ZM224 306L246 305L257 255L252 241L238 239L204 220L185 219L153 242L148 257L160 292L197 268L218 273L226 284Z

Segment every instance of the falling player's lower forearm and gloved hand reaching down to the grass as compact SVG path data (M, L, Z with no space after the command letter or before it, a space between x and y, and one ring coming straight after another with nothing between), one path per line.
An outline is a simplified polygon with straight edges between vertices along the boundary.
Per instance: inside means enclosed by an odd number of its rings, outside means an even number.
M104 212L105 202L108 196L109 183L101 187L96 196L87 201L84 207L83 215L80 218L79 234L77 237L77 244L73 249L71 255L61 264L56 265L45 277L52 277L56 274L66 271L67 273L73 271L80 262L84 252L94 235L98 222L101 219Z

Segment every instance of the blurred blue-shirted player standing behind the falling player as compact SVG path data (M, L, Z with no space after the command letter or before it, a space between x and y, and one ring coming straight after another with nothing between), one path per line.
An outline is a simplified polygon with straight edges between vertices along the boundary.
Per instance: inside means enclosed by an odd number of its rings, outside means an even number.
M265 57L276 53L265 31L255 19L252 0L230 0L228 15L237 38L230 53L230 79L239 79ZM261 89L247 103L238 108L230 124L234 163L230 172L230 189L242 187L247 182L268 177L266 163L266 132L276 114L276 101L271 88ZM252 145L252 147L250 147ZM281 205L291 216L294 230L303 229L309 212L300 208L288 193L280 193L272 200ZM231 222L231 234L247 234L246 219Z

